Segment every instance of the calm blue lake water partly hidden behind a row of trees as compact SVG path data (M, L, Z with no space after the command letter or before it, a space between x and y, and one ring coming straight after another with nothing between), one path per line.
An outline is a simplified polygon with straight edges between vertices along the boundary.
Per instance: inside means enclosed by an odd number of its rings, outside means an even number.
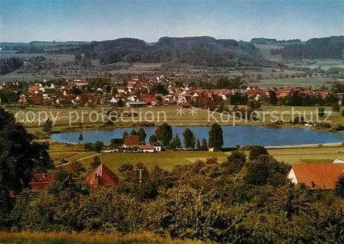
M173 136L179 134L183 143L183 131L185 128L191 129L195 133L196 138L208 140L208 126L175 126L173 127ZM101 140L105 144L109 144L111 138L122 137L127 131L130 133L133 128L114 129L113 131L82 131L72 133L58 133L51 136L52 140L58 142L78 143L80 133L83 134L83 143L96 142ZM135 128L138 129L138 128ZM147 134L147 142L149 136L155 133L155 127L144 128ZM311 129L294 129L280 128L272 129L259 126L222 126L224 131L224 146L241 146L245 145L262 145L262 146L288 146L301 144L323 144L344 142L344 135L325 131L312 131Z

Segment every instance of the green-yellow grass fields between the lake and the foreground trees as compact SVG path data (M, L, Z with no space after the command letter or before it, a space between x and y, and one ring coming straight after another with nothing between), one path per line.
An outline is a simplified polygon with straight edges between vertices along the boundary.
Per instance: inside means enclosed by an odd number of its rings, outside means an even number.
M305 163L331 163L334 159L344 160L344 146L323 146L314 148L271 148L268 153L277 160L287 164ZM244 151L248 155L248 151ZM83 145L71 145L52 143L50 145L50 155L55 164L59 164L61 159L69 162L74 159L95 155L95 152L85 152ZM99 155L100 161L106 164L114 173L118 173L118 167L124 163L136 165L143 163L149 169L160 166L166 170L172 170L177 165L185 165L216 157L218 162L224 162L230 152L197 152L197 151L162 151L159 153L103 153ZM93 157L80 160L87 168L93 161Z

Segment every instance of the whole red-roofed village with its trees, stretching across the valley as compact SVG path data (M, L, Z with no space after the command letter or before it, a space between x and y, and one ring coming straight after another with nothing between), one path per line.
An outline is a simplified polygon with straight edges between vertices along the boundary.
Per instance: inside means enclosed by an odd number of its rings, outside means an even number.
M19 82L0 82L0 90L10 89L16 93L17 101L11 103L32 104L32 105L54 105L75 107L94 106L94 105L114 105L117 107L150 107L168 106L169 104L181 104L190 107L195 102L213 102L221 100L227 104L236 104L232 98L234 96L246 97L246 100L255 100L267 103L270 94L276 93L277 100L288 98L293 93L297 93L301 98L312 100L325 100L330 91L314 91L305 87L268 87L259 88L258 86L237 87L233 89L203 89L193 87L183 82L182 86L176 86L175 81L182 81L179 74L173 74L165 78L161 76L132 76L125 82L112 82L103 87L89 87L89 81L83 79L58 80L27 84L27 90L18 93ZM17 89L16 89L17 87ZM23 84L20 85L23 87ZM158 89L156 89L158 87ZM336 93L341 104L342 93ZM2 101L2 103L8 103ZM0 100L1 104L1 100Z

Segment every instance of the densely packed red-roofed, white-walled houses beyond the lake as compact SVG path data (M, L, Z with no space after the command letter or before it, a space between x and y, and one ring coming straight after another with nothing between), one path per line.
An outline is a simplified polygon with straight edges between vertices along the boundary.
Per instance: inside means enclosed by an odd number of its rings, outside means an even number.
M117 104L121 100L126 107L147 107L156 105L168 104L190 104L195 100L202 99L206 102L211 102L214 98L230 102L230 98L236 94L242 96L246 95L250 100L264 101L270 96L271 91L277 93L277 98L286 98L294 91L298 91L301 96L314 96L325 99L330 93L329 91L312 91L305 90L301 87L281 87L279 89L273 88L259 88L247 87L246 89L202 89L200 87L177 87L173 85L174 80L179 79L179 74L169 76L167 80L162 76L144 76L142 80L138 76L132 76L130 80L125 82L125 86L115 88L111 87L111 92L103 91L102 88L95 88L92 92L82 93L76 95L72 93L73 87L84 87L89 84L87 80L74 79L68 80L67 85L54 85L47 80L41 83L30 85L28 93L19 96L19 102L32 102L32 104L45 104L47 102L52 104L60 104L61 102L71 102L72 104ZM159 82L164 81L166 85L167 94L157 93L152 95L151 87ZM122 83L123 84L123 83ZM5 84L0 84L0 89L3 89ZM52 92L54 91L54 92ZM115 92L114 92L115 91ZM339 94L338 96L341 96Z

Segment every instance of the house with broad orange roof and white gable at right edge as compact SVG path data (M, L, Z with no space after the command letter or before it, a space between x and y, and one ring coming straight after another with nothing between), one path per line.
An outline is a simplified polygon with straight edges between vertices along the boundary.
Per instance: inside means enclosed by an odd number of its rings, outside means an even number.
M292 164L288 178L314 189L333 189L344 173L344 164Z

